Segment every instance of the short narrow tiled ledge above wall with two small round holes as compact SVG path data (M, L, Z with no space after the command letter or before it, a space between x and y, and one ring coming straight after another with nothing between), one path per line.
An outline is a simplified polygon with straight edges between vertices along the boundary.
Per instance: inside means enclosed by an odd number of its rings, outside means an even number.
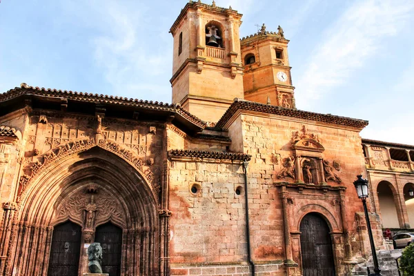
M233 152L213 152L204 150L170 150L170 157L196 157L211 159L229 159L239 161L250 161L251 155Z

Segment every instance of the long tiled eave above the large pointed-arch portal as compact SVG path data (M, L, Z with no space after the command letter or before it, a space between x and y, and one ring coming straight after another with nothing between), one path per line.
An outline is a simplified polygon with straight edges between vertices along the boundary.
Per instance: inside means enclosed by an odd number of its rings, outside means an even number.
M21 95L39 95L39 96L46 96L46 97L56 97L56 98L67 98L77 101L86 101L90 103L109 103L109 104L117 104L120 106L132 106L137 108L145 108L148 110L163 110L169 112L175 112L181 117L184 117L191 123L195 124L199 128L205 128L206 123L192 115L187 110L181 108L179 104L170 104L170 103L162 103L158 101L143 101L141 99L128 99L126 97L117 97L117 96L108 96L108 95L98 95L88 92L75 92L75 91L67 91L67 90L56 90L50 88L39 88L28 86L26 83L21 83L21 87L16 87L14 89L10 89L7 92L0 94L0 102L7 101L9 99L13 99L19 97Z

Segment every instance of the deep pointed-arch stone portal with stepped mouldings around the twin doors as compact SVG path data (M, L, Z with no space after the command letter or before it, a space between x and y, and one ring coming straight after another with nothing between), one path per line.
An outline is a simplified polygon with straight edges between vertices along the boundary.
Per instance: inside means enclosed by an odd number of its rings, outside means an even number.
M108 252L118 256L112 258L114 275L157 275L157 199L141 172L118 155L99 147L71 155L34 179L21 203L21 227L15 229L16 246L10 258L10 267L17 268L15 275L48 273L52 233L66 221L81 227L79 248L95 239L108 239L109 234L102 233L112 229L111 239L117 239L110 250L115 251ZM26 239L32 239L30 246L20 242ZM80 254L79 273L86 273L85 250Z

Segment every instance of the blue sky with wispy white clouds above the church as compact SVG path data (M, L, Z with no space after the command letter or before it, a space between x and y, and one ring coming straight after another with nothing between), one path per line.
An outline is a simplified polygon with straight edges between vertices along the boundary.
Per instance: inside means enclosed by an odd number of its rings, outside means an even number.
M26 82L170 102L168 30L186 3L1 0L0 92ZM216 4L244 14L242 37L284 28L298 109L366 119L362 137L414 144L414 1Z

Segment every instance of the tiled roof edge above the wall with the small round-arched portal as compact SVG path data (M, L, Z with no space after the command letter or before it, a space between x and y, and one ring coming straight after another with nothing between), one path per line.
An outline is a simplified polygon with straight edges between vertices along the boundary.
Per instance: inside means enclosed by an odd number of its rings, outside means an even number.
M270 106L264 103L255 103L253 101L246 101L242 99L235 99L232 105L228 108L223 117L219 119L216 128L224 128L228 120L233 117L237 110L248 110L253 112L263 112L268 114L282 115L286 117L296 117L300 119L308 119L313 121L321 121L324 123L337 124L342 126L353 126L356 128L364 128L368 125L368 121L361 119L353 119L348 117L340 117L330 114L321 114L315 112L308 112L297 110L293 108L282 108L281 106Z

